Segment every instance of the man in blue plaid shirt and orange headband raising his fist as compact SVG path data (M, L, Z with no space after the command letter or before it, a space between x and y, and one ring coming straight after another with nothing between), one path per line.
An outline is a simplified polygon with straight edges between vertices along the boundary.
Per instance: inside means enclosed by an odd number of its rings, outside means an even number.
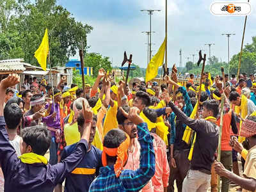
M140 168L124 170L128 158L130 138L120 129L111 129L104 137L102 164L99 176L93 180L89 191L140 191L155 173L153 141L147 124L138 115L138 108L131 108L129 114L123 111L138 130L140 142ZM108 184L108 185L106 185Z

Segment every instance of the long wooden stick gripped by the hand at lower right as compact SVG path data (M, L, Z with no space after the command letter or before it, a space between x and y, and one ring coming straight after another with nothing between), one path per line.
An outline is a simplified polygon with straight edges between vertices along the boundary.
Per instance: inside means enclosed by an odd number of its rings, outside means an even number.
M221 94L221 109L220 109L220 134L219 134L219 144L218 144L218 156L217 161L220 161L220 154L221 154L221 136L222 136L222 127L223 127L223 114L224 114L224 93ZM220 176L218 175L218 192L220 192Z

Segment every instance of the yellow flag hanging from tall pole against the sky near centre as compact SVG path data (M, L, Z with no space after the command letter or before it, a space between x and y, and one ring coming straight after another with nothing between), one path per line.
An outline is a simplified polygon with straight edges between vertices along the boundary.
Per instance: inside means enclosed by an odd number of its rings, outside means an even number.
M163 65L165 46L166 46L166 37L164 38L163 44L157 51L157 54L155 54L155 56L148 63L148 67L146 70L146 82L154 79L154 77L157 76L158 68Z

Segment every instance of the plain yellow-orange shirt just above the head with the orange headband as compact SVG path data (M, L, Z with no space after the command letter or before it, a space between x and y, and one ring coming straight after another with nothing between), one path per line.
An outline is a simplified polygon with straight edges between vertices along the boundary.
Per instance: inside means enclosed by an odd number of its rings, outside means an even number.
M111 130L118 128L116 113L118 104L114 101L114 106L110 107L107 111L106 118L103 125L103 137Z

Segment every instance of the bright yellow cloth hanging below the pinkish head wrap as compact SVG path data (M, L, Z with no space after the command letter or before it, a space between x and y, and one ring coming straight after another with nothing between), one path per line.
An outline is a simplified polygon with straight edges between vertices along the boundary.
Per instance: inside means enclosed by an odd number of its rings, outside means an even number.
M80 133L78 131L77 123L74 123L72 125L65 124L64 125L64 136L65 136L65 141L67 143L67 146L77 143L81 138Z

